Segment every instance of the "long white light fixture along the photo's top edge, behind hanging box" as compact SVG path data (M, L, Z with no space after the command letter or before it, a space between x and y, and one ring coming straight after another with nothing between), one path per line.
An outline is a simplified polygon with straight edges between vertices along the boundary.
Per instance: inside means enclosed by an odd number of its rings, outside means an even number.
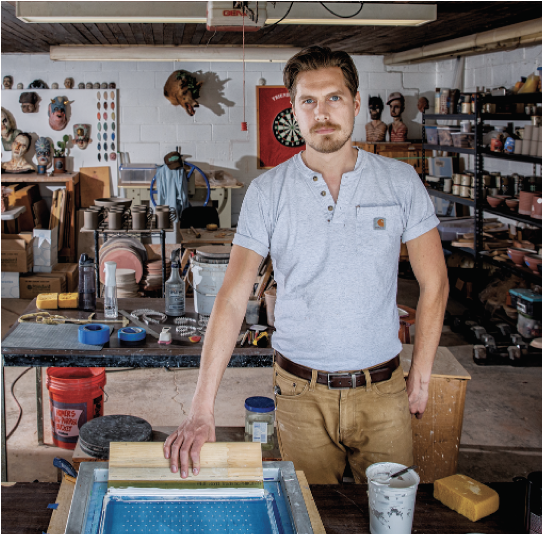
M219 4L220 2L213 2ZM261 4L262 2L260 2ZM223 2L224 7L232 2ZM257 5L257 2L249 2ZM380 4L364 2L360 12L356 2L294 2L291 13L281 20L290 2L267 2L266 24L328 24L347 26L420 26L437 19L436 4ZM16 16L23 22L44 23L188 23L207 22L207 2L17 2ZM354 9L355 8L355 9ZM231 10L234 11L234 10ZM342 18L348 17L348 18ZM231 17L235 24L235 18ZM237 21L242 26L242 17Z

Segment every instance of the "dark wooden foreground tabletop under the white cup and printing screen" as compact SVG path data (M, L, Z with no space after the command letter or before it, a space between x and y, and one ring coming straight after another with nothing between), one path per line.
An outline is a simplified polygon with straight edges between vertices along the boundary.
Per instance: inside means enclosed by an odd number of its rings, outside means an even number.
M65 482L63 483L63 486ZM522 494L514 482L488 484L500 496L500 508L494 514L472 523L433 498L433 484L420 484L412 532L423 534L519 534L522 530ZM51 482L18 482L2 485L2 534L62 534L62 502L66 492ZM328 534L369 534L369 505L366 484L310 485L316 508ZM57 502L53 512L47 506ZM62 495L64 493L64 495ZM69 492L67 492L69 493ZM51 515L56 515L51 520ZM66 513L67 515L67 513ZM51 523L49 523L51 521Z

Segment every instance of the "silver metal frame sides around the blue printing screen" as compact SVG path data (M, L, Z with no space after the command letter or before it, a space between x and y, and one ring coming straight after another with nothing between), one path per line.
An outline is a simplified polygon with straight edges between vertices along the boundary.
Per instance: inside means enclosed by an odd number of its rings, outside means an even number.
M82 534L85 529L92 487L108 479L107 462L83 462L73 492L65 534ZM297 534L313 534L305 499L292 462L263 462L264 480L278 481L288 497L290 515Z

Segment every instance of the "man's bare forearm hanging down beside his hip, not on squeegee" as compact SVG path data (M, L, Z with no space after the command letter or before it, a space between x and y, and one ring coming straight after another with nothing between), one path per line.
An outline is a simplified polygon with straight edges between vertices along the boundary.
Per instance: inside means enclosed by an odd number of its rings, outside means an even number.
M412 366L417 368L423 382L426 383L431 378L431 369L440 341L447 301L447 280L442 280L440 284L435 284L430 289L421 289L416 310L416 335Z

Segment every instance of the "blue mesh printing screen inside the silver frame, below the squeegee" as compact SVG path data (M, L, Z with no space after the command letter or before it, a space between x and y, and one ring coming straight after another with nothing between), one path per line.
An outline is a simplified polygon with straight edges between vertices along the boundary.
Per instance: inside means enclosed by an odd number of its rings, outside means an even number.
M279 482L264 482L264 498L115 497L109 501L103 533L109 534L294 534ZM95 482L85 534L97 534L107 482Z

